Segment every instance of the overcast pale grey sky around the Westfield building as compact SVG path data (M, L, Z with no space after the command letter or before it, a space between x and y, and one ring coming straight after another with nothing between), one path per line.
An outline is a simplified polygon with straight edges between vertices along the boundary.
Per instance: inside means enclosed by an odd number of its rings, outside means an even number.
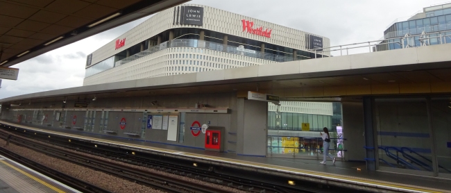
M448 0L449 1L449 0ZM241 15L330 38L331 45L379 40L395 19L405 19L436 0L194 0ZM147 17L148 18L148 17ZM12 67L17 81L3 80L0 99L83 85L86 55L145 19L87 37Z

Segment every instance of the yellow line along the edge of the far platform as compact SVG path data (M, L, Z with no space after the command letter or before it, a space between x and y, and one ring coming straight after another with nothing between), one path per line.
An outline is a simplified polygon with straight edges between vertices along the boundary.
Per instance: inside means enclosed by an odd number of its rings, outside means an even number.
M3 121L0 121L3 122ZM179 152L179 151L172 151L169 149L160 149L160 148L156 148L156 147L152 147L152 146L143 146L143 145L139 145L139 144L128 144L128 143L124 143L124 142L115 142L115 141L110 141L110 140L103 140L103 139L99 139L99 138L95 138L95 137L85 137L85 136L80 136L80 135L74 135L74 134L68 134L68 133L60 133L57 131L47 131L44 129L37 129L37 128L31 128L28 126L22 126L22 125L17 125L17 124L13 124L17 127L22 127L22 128L28 128L34 131L44 131L45 133L51 133L54 135L62 135L65 137L74 137L74 138L81 138L84 140L93 140L95 142L104 142L104 143L108 143L108 144L119 144L119 145L125 145L125 146L132 146L132 147L138 147L144 150L150 150L150 151L162 151L161 153L175 153L175 152ZM248 161L241 161L241 160L235 160L235 159L230 159L230 158L218 158L218 157L214 157L214 156L205 156L205 155L201 155L201 154L196 154L196 153L183 153L183 154L177 154L177 156L190 156L190 157L196 157L196 158L203 158L203 159L209 159L212 161L226 161L226 162L230 162L230 163L237 163L237 164L241 164L241 165L253 165L253 166L257 166L257 167L263 167L264 169L278 169L278 170L283 170L283 171L291 171L291 172L296 172L296 173L303 173L303 174L310 174L310 175L314 175L314 176L321 176L321 177L327 177L327 178L332 178L333 180L343 180L343 181L354 181L354 182L359 182L359 183L366 183L369 185L381 185L381 186L385 186L385 187L393 187L393 188L400 188L400 189L404 189L404 190L414 190L414 191L418 191L418 192L438 192L438 191L434 191L434 190L427 190L427 189L420 189L420 188L415 188L415 187L408 187L408 186L402 186L402 185L394 185L391 183L379 183L379 182L375 182L375 181L366 181L366 180L360 180L357 178L346 178L343 176L336 176L336 175L330 175L330 174L321 174L321 173L317 173L314 171L309 171L309 170L300 170L300 169L291 169L288 167L280 167L280 166L276 166L276 165L266 165L266 164L261 164L261 163L257 163L257 162L248 162Z

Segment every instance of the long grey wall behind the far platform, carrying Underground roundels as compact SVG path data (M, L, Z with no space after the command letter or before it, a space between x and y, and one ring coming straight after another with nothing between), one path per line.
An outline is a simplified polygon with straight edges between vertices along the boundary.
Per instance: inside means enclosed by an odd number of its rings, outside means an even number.
M80 100L83 101L83 100ZM157 101L155 105L153 101ZM224 150L230 153L237 151L237 145L228 143L236 141L237 135L237 94L187 94L175 96L148 96L148 97L118 97L91 101L86 110L74 110L75 101L67 101L65 109L58 108L62 100L31 103L22 106L4 108L1 119L17 123L18 116L24 118L20 124L33 125L41 128L55 128L61 131L79 131L85 133L96 133L101 135L112 135L114 137L130 138L135 140L146 140L164 144L175 144L189 146L198 149L204 148L205 134L194 136L190 127L194 121L210 126L222 126L226 128ZM228 108L227 113L203 113L203 112L123 112L124 109L142 108L194 108L195 103L208 104L210 108ZM264 103L267 106L266 103ZM114 109L114 110L113 110ZM119 110L118 110L119 109ZM107 113L108 112L108 113ZM58 113L60 119L57 120ZM184 113L183 116L181 114ZM107 116L108 115L108 116ZM167 130L146 128L147 115L178 115L178 136L176 141L167 140ZM184 119L182 119L184 117ZM124 128L121 128L121 119L126 120ZM263 121L266 123L266 121ZM107 133L105 131L114 131ZM136 133L130 135L128 133ZM266 139L265 136L261 136ZM252 144L248 144L252 145ZM264 148L262 148L264 149Z

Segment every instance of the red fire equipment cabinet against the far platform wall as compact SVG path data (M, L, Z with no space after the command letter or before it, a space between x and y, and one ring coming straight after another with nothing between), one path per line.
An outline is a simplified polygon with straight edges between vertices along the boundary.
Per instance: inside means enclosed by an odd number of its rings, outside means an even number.
M225 131L224 127L210 126L205 132L205 150L223 152Z

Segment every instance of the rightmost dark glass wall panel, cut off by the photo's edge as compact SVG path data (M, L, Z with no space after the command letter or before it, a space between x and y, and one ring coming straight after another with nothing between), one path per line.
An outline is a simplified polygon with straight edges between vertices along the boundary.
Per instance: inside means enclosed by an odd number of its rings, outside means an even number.
M435 137L439 176L451 177L451 103L450 98L432 99L432 128Z

